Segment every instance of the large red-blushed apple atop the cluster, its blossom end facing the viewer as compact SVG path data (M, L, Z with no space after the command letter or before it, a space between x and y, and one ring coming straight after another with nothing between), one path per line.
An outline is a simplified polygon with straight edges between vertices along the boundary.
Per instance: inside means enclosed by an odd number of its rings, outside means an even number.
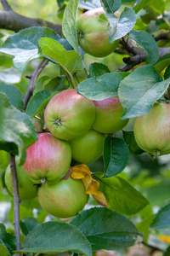
M48 102L44 119L55 137L71 140L82 136L93 125L94 102L78 94L75 89L63 90Z

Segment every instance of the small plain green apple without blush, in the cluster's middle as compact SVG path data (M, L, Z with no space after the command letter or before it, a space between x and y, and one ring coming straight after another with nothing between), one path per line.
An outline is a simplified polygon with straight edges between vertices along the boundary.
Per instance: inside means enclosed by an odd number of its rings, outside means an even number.
M81 137L70 142L72 159L77 162L88 164L98 160L104 150L105 134L89 130Z

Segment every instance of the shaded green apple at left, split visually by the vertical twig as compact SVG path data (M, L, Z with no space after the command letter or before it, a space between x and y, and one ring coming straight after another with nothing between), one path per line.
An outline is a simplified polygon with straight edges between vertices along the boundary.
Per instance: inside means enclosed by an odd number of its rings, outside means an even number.
M32 183L31 179L24 172L23 167L19 166L19 160L16 158L16 173L18 178L19 195L21 200L32 199L37 196L37 186ZM8 165L4 181L8 191L13 195L13 183L11 177L10 165Z

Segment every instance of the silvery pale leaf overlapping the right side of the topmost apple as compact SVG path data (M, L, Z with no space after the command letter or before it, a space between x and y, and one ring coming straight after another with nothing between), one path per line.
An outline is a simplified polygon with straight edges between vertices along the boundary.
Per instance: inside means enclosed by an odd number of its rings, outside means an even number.
M107 15L110 25L108 34L111 44L119 38L127 35L133 29L136 22L136 15L133 9L125 7L119 19L113 15Z

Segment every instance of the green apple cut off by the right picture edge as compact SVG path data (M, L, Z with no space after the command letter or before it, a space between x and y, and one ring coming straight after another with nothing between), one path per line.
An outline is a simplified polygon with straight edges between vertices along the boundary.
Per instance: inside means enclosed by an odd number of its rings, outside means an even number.
M153 155L170 154L170 105L154 103L149 113L134 121L136 142Z

